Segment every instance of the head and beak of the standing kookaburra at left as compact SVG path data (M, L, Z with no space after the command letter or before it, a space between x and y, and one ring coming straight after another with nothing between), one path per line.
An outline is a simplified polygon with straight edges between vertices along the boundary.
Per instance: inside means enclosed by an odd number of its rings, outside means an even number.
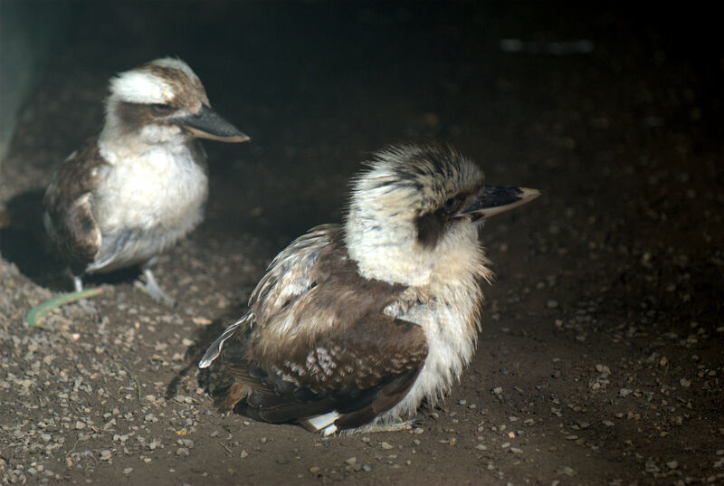
M204 85L180 59L161 58L110 80L101 138L132 136L145 144L249 137L211 109Z

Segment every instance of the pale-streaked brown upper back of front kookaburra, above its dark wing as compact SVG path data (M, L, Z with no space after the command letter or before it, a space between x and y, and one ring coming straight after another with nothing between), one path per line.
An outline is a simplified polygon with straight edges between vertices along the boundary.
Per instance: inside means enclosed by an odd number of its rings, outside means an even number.
M281 357L298 339L309 347L326 333L382 315L403 291L404 285L359 274L339 225L313 228L277 256L252 294L256 332L250 355Z

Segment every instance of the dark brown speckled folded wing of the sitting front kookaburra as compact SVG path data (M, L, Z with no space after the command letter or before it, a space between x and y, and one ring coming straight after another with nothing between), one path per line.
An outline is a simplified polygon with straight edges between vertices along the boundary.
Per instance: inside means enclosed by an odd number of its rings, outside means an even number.
M248 356L248 354L247 354ZM368 424L407 394L427 356L422 328L379 314L273 362L224 360L235 383L224 405L272 423L337 412L337 430Z

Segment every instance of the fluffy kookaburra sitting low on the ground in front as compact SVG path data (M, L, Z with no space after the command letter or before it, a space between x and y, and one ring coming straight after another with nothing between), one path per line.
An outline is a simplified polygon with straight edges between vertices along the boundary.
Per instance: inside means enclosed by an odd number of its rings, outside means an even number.
M232 378L221 409L324 435L399 430L470 363L492 277L479 229L539 191L484 184L449 145L388 146L366 165L342 224L282 250L201 358Z

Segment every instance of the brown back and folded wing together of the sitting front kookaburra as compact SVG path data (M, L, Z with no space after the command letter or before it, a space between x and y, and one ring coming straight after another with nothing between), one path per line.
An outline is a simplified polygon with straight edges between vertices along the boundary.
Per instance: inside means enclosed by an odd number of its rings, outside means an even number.
M221 355L234 379L224 407L332 434L373 422L413 386L424 330L384 313L405 287L360 276L340 231L319 226L282 251L252 311L206 351L199 366Z

